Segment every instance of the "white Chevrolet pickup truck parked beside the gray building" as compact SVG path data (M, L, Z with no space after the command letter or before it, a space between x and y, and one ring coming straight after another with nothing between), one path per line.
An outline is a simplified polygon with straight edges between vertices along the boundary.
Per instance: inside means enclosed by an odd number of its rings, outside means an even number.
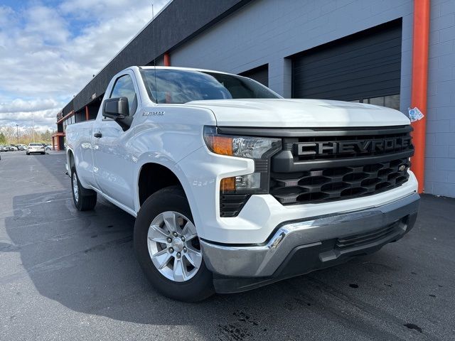
M414 226L410 121L385 107L284 99L249 78L129 67L97 118L68 126L78 210L137 217L153 286L234 293L377 251Z

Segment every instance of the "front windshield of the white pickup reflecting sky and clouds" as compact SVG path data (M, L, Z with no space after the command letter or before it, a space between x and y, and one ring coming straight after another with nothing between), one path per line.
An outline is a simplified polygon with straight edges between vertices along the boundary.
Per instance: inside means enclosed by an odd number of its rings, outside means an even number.
M178 104L203 99L280 98L249 78L217 72L142 69L152 101ZM156 80L156 81L155 81Z

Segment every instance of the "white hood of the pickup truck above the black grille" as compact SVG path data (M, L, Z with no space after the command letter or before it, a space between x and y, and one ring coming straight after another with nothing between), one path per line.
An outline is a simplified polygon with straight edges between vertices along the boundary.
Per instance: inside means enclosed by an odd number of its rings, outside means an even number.
M188 102L210 109L218 126L399 126L410 120L397 110L327 99L216 99Z

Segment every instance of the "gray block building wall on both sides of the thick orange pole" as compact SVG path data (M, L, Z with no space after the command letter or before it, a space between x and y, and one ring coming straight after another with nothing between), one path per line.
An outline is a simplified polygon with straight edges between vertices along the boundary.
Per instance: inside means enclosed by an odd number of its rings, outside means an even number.
M400 109L410 106L413 1L255 0L171 53L174 66L240 73L269 65L269 87L291 97L286 59L402 17ZM455 1L432 0L425 192L455 197Z

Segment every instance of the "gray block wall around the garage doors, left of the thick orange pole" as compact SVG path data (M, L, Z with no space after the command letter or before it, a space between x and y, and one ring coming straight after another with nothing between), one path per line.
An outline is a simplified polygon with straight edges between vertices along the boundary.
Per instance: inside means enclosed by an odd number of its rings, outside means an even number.
M269 64L269 87L291 97L291 63L303 50L402 17L403 107L410 102L412 1L255 0L171 53L176 66L240 73Z

